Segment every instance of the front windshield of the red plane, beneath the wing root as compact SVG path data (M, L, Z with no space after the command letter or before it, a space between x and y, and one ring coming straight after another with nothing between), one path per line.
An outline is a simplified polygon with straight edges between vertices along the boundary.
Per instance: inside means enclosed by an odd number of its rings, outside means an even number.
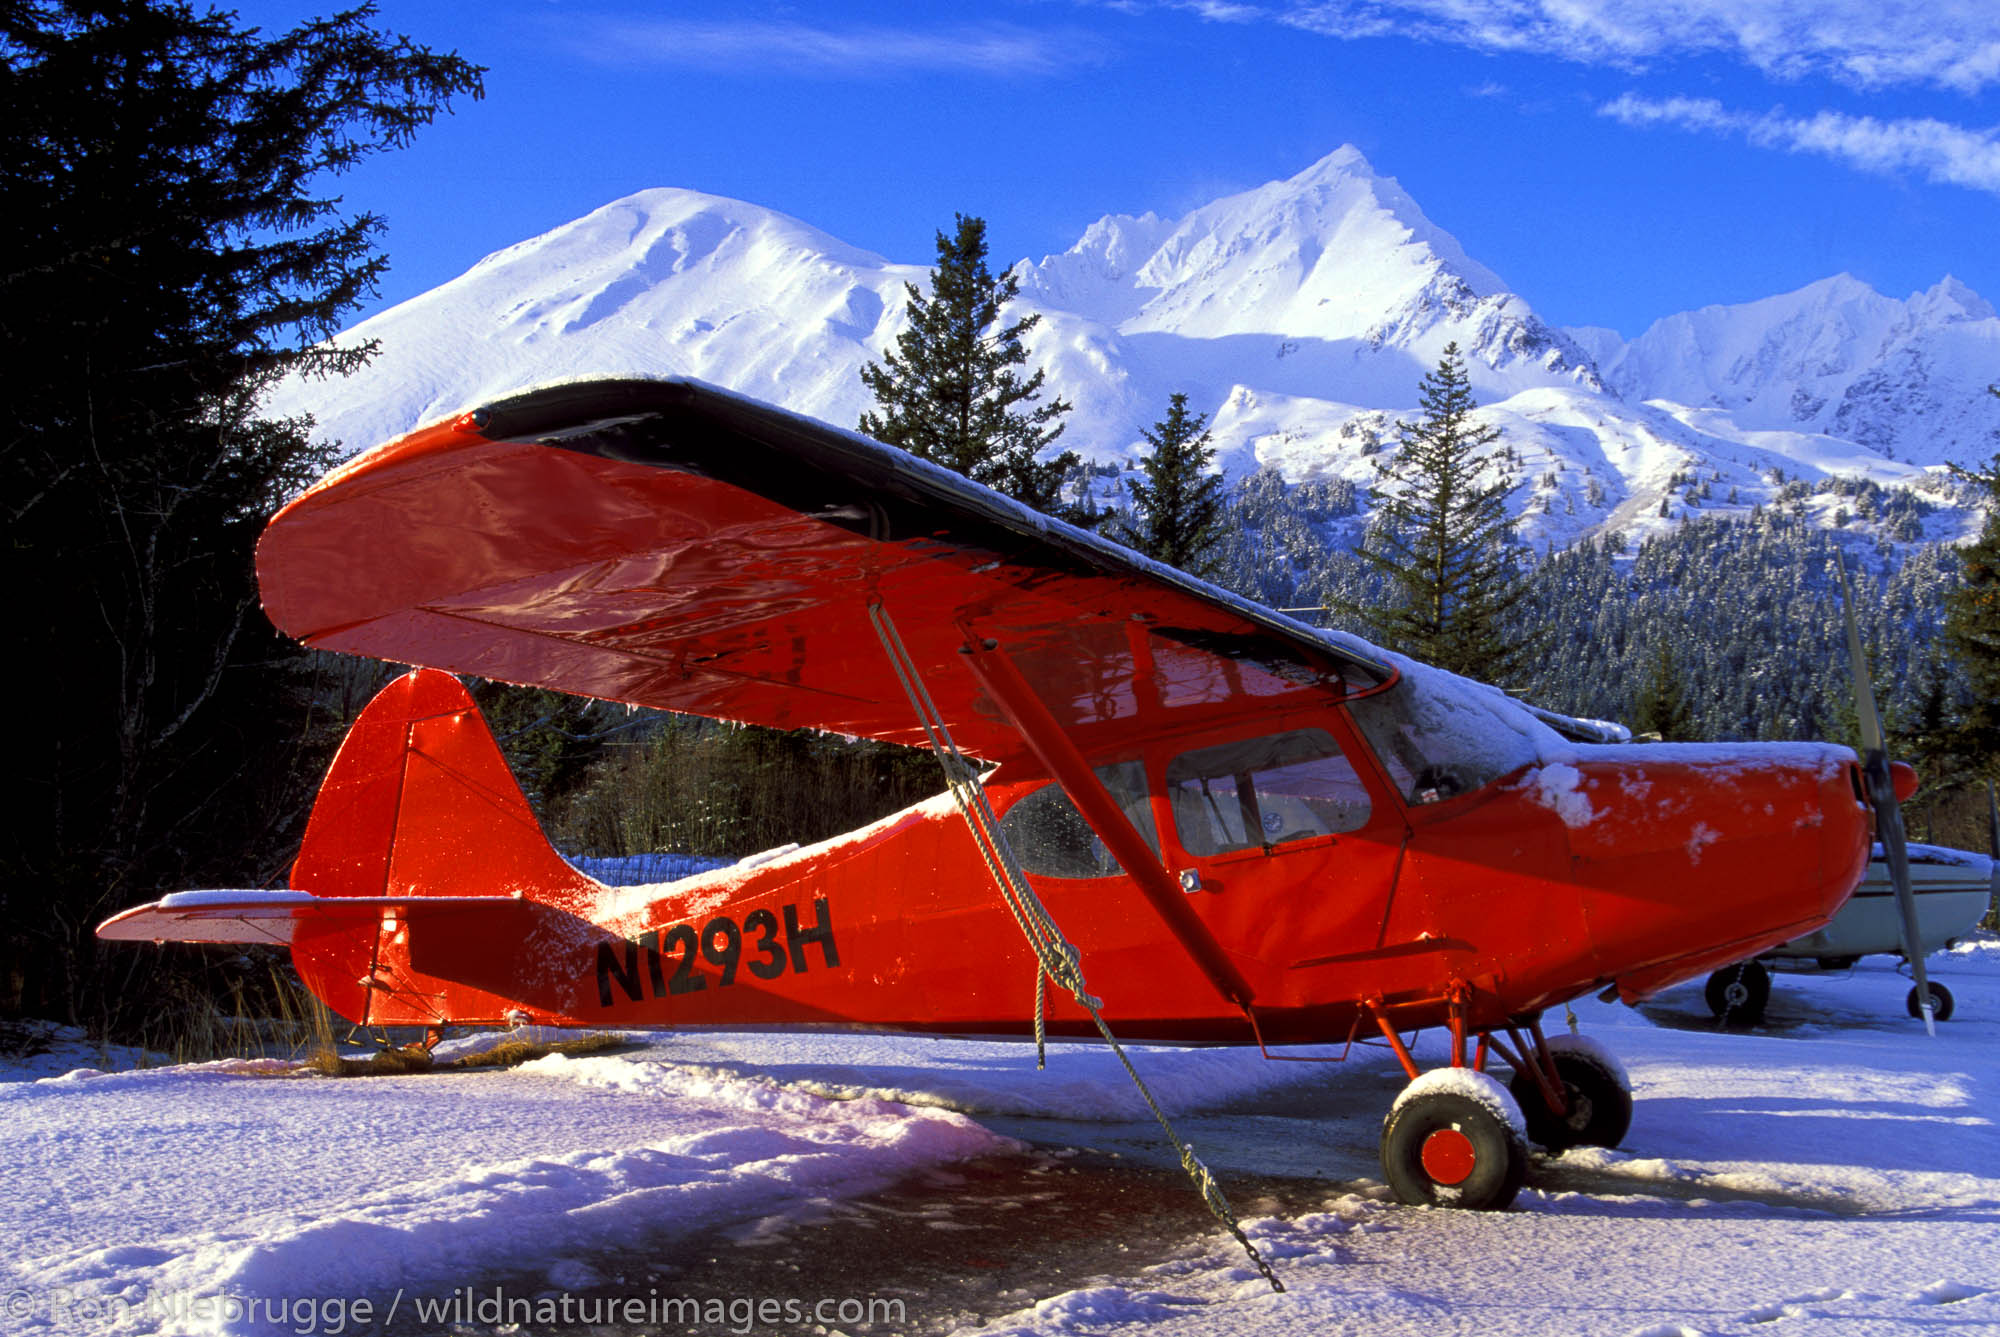
M1534 765L1534 745L1470 695L1432 691L1414 677L1348 703L1376 761L1404 803L1440 803Z

